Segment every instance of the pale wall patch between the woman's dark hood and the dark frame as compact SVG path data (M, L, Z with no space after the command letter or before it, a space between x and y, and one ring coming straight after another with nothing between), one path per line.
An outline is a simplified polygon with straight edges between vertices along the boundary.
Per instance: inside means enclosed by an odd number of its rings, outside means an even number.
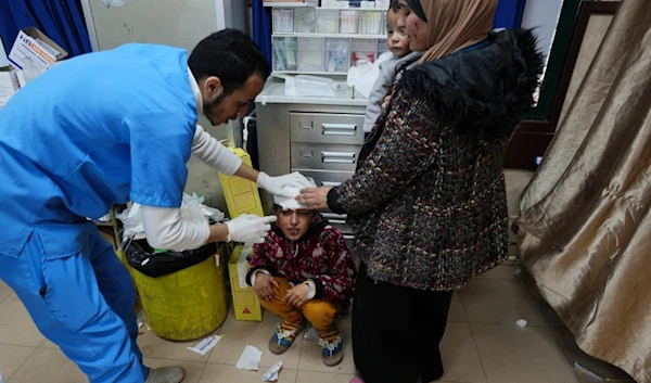
M553 42L563 0L527 0L522 16L523 28L535 28L538 47L546 56Z

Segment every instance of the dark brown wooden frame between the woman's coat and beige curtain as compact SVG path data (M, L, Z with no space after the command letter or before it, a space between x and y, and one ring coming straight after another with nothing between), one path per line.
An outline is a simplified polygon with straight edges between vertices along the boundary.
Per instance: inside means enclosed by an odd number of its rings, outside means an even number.
M538 105L525 117L515 132L507 153L505 167L536 168L536 157L545 154L559 124L590 16L614 14L620 3L620 1L564 0Z

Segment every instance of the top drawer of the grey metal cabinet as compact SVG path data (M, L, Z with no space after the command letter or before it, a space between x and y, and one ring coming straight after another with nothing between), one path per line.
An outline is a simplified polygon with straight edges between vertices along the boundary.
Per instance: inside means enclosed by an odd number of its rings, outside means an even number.
M363 116L290 113L292 142L363 144Z

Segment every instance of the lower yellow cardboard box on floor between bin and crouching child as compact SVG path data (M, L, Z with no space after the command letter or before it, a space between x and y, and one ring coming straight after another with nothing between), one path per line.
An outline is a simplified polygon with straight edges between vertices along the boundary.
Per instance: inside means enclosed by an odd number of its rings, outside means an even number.
M246 284L246 272L250 268L246 256L251 251L251 246L246 248L243 245L235 246L228 263L228 273L230 276L235 319L259 322L263 320L260 302L253 288Z

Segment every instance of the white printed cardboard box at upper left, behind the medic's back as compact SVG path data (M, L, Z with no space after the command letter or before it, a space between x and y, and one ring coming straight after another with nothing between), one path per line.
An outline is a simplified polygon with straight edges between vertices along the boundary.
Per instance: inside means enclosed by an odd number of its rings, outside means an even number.
M22 29L9 52L11 65L22 72L21 87L66 56L63 48L35 27Z

